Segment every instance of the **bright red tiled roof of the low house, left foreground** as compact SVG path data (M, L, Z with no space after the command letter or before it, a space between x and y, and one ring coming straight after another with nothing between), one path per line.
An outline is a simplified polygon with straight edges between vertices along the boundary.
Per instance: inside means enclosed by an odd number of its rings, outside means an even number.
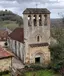
M0 46L0 59L13 57L13 54Z

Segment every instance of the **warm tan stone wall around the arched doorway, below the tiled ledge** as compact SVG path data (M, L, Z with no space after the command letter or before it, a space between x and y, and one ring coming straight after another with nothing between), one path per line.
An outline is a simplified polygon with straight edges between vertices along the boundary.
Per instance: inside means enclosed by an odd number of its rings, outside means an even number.
M50 63L50 51L48 46L42 47L29 47L29 52L26 56L26 63L35 63L35 56L41 55L41 63L42 64L49 64Z

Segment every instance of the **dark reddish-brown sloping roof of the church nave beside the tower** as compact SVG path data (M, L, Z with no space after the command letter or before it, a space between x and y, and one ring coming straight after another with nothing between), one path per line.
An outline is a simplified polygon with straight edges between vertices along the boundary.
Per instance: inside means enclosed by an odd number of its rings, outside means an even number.
M9 37L13 40L19 41L24 43L24 29L23 28L16 28Z

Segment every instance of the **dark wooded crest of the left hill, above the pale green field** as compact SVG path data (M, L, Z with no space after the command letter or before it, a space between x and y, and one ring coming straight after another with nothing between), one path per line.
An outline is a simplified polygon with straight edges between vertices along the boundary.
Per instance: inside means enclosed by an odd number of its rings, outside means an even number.
M0 11L0 21L16 21L16 23L23 24L23 19L17 14L12 13L11 11L5 10L5 11Z

